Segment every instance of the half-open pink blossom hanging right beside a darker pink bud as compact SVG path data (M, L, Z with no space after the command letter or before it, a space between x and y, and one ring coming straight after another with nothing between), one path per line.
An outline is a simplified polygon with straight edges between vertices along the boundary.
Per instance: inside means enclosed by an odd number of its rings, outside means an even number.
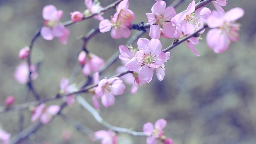
M86 57L86 62L83 65L83 74L85 76L89 76L91 72L99 71L100 68L105 64L104 60L94 55L93 53L89 53Z

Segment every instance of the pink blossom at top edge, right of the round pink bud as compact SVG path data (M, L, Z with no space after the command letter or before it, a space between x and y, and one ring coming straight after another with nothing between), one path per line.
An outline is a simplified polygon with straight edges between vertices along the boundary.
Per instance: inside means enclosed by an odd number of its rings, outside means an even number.
M93 13L98 13L103 9L103 7L100 6L100 2L98 2L97 0L85 0L85 6L87 7L87 10L85 10L85 12L84 12L85 16L91 15ZM101 12L100 14L95 15L93 18L98 21L101 21L104 19L103 16L101 16L103 14L104 13Z

